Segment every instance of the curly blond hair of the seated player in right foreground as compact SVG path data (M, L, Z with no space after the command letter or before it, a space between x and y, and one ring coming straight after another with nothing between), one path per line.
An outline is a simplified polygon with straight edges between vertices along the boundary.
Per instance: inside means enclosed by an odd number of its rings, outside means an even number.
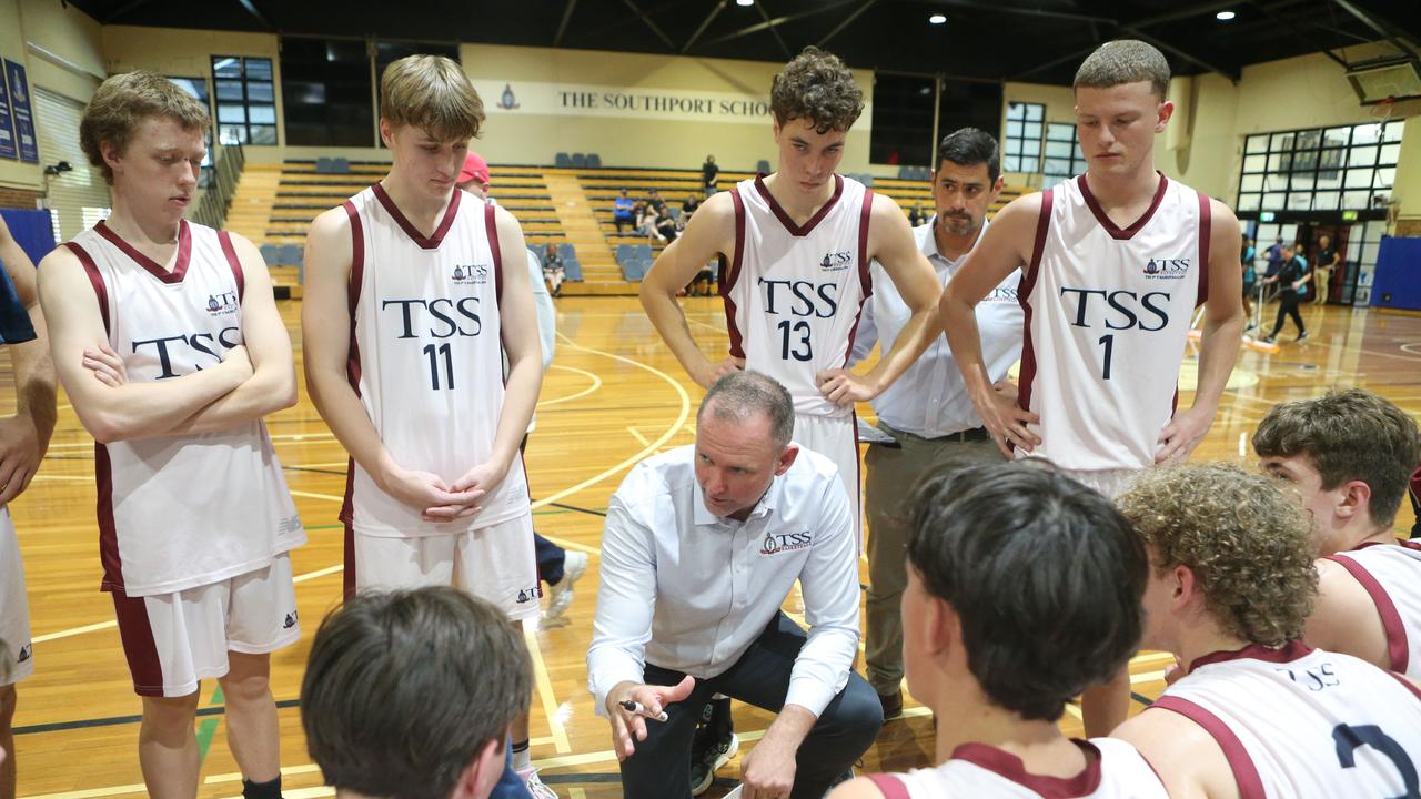
M1245 641L1299 638L1317 599L1312 522L1273 478L1228 463L1185 463L1141 475L1120 510L1165 573L1188 566L1209 616Z

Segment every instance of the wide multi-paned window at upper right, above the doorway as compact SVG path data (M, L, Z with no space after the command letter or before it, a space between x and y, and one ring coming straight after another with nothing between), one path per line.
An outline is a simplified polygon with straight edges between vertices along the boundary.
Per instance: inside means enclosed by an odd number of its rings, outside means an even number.
M1255 134L1243 142L1238 210L1366 210L1391 200L1400 119Z

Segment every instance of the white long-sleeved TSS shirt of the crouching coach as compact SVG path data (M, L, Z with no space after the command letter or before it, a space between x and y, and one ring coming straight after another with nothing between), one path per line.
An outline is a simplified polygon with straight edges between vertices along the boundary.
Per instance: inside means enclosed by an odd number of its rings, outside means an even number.
M696 678L725 672L799 580L810 630L784 701L818 715L858 654L858 543L838 471L800 448L736 522L706 510L693 458L686 445L642 461L607 509L587 651L597 712L618 682L642 682L647 663Z

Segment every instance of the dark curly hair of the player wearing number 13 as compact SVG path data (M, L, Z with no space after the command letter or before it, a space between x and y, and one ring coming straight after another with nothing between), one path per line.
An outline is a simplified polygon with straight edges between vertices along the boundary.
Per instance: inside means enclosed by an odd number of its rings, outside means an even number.
M847 131L864 112L864 92L838 55L810 45L774 75L770 111L780 125L807 119L820 135Z

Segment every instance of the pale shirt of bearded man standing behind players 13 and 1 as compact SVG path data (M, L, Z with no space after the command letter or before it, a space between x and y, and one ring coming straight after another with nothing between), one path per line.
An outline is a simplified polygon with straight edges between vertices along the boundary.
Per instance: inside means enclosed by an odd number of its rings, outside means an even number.
M958 260L948 260L938 252L938 242L932 236L932 226L936 222L938 218L934 216L926 225L914 227L912 235L918 239L918 249L928 256L928 263L936 270L938 281L946 286L966 260L966 253ZM983 220L982 230L986 230L986 225ZM978 240L982 240L982 232L978 232ZM854 337L851 357L854 363L867 358L878 341L882 341L884 351L891 348L912 316L882 264L875 260L870 270L874 296L864 306L858 336ZM1020 281L1022 272L1013 270L976 306L982 358L992 382L1006 378L1007 370L1022 357L1026 314L1016 301L1016 287ZM945 336L934 338L892 385L872 398L872 405L874 412L888 427L922 438L939 438L982 427Z

